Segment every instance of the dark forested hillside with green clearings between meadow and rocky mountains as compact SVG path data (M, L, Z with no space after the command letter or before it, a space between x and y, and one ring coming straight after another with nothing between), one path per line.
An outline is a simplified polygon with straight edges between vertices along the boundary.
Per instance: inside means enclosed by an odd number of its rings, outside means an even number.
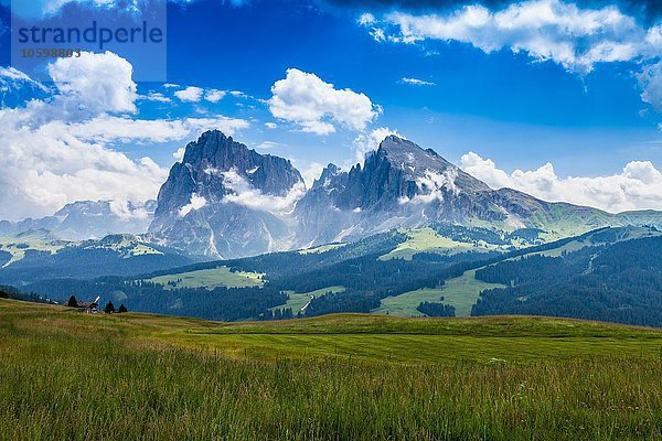
M439 224L138 277L46 279L24 289L58 301L94 292L134 311L223 321L372 312L404 318L557 315L660 326L660 240L662 233L654 227L620 227L524 246L537 241L536 232L503 236ZM455 245L444 248L448 243ZM470 251L459 243L484 248ZM638 261L648 263L638 268ZM538 262L538 273L526 262ZM492 269L508 277L485 276ZM527 284L522 283L525 275ZM608 291L596 284L602 280L597 275L609 281ZM637 278L647 283L634 283Z

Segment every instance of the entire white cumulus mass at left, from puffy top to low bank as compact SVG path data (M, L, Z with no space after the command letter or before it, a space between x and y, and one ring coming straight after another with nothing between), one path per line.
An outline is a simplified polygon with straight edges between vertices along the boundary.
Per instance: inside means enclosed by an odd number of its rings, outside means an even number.
M153 198L168 169L114 147L177 141L209 128L229 133L248 126L222 116L130 118L127 114L138 99L130 64L111 53L90 55L76 58L81 66L63 60L50 65L56 89L47 99L0 109L0 218L50 215L74 201L113 201L120 207Z

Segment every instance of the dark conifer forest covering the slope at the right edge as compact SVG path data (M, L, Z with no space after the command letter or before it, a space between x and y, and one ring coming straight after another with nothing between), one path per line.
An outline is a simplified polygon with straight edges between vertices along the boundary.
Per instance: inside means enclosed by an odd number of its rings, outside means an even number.
M554 315L662 326L661 237L504 261L476 277L509 288L483 291L472 315Z

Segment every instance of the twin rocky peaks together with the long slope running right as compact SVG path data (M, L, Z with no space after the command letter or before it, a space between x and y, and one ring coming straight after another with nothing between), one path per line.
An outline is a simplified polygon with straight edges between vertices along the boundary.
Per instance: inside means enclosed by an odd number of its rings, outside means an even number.
M395 136L363 166L329 164L305 191L288 160L214 130L189 143L172 166L148 238L192 255L237 258L439 223L503 234L536 229L549 241L605 226L660 226L662 213L610 214L492 190L434 150Z

